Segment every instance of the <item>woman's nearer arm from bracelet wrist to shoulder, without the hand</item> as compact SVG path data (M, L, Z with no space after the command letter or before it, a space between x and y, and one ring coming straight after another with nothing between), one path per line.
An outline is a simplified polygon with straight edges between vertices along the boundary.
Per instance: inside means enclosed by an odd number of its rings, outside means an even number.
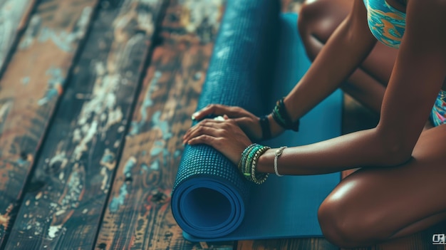
M354 167L400 165L409 160L446 75L445 31L446 1L410 0L405 35L378 126L288 148L280 157L279 172L313 175ZM274 151L260 157L257 170L274 172Z

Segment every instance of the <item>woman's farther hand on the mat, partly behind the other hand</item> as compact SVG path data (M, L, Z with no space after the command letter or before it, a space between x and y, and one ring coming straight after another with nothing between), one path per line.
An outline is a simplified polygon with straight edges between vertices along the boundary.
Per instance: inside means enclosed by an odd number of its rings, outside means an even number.
M208 115L223 116L234 120L237 125L252 141L259 141L262 138L262 131L259 120L256 115L250 113L244 108L227 106L220 104L211 104L202 108L192 115L193 120L202 120Z

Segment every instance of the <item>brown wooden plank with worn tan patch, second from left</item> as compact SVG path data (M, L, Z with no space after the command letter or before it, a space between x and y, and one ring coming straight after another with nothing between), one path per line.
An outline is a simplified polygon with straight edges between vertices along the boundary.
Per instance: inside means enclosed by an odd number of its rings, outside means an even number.
M94 6L42 1L0 81L0 246Z

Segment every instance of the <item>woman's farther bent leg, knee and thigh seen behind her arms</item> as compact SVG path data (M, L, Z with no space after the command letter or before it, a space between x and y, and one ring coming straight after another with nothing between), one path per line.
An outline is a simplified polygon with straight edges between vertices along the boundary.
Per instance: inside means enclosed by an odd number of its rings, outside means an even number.
M352 6L351 0L313 0L304 3L299 14L298 26L311 60L321 51L331 33L346 18ZM361 67L343 84L343 90L379 113L395 56L394 48L377 43Z

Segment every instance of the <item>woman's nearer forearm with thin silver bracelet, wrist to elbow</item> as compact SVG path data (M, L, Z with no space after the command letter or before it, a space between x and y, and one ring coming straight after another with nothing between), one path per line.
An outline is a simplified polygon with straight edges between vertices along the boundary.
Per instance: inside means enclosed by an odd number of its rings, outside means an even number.
M274 173L274 153L266 151L257 162L259 172ZM281 175L318 175L356 167L399 165L410 154L391 147L378 130L362 130L323 142L299 147L289 147L278 159Z

